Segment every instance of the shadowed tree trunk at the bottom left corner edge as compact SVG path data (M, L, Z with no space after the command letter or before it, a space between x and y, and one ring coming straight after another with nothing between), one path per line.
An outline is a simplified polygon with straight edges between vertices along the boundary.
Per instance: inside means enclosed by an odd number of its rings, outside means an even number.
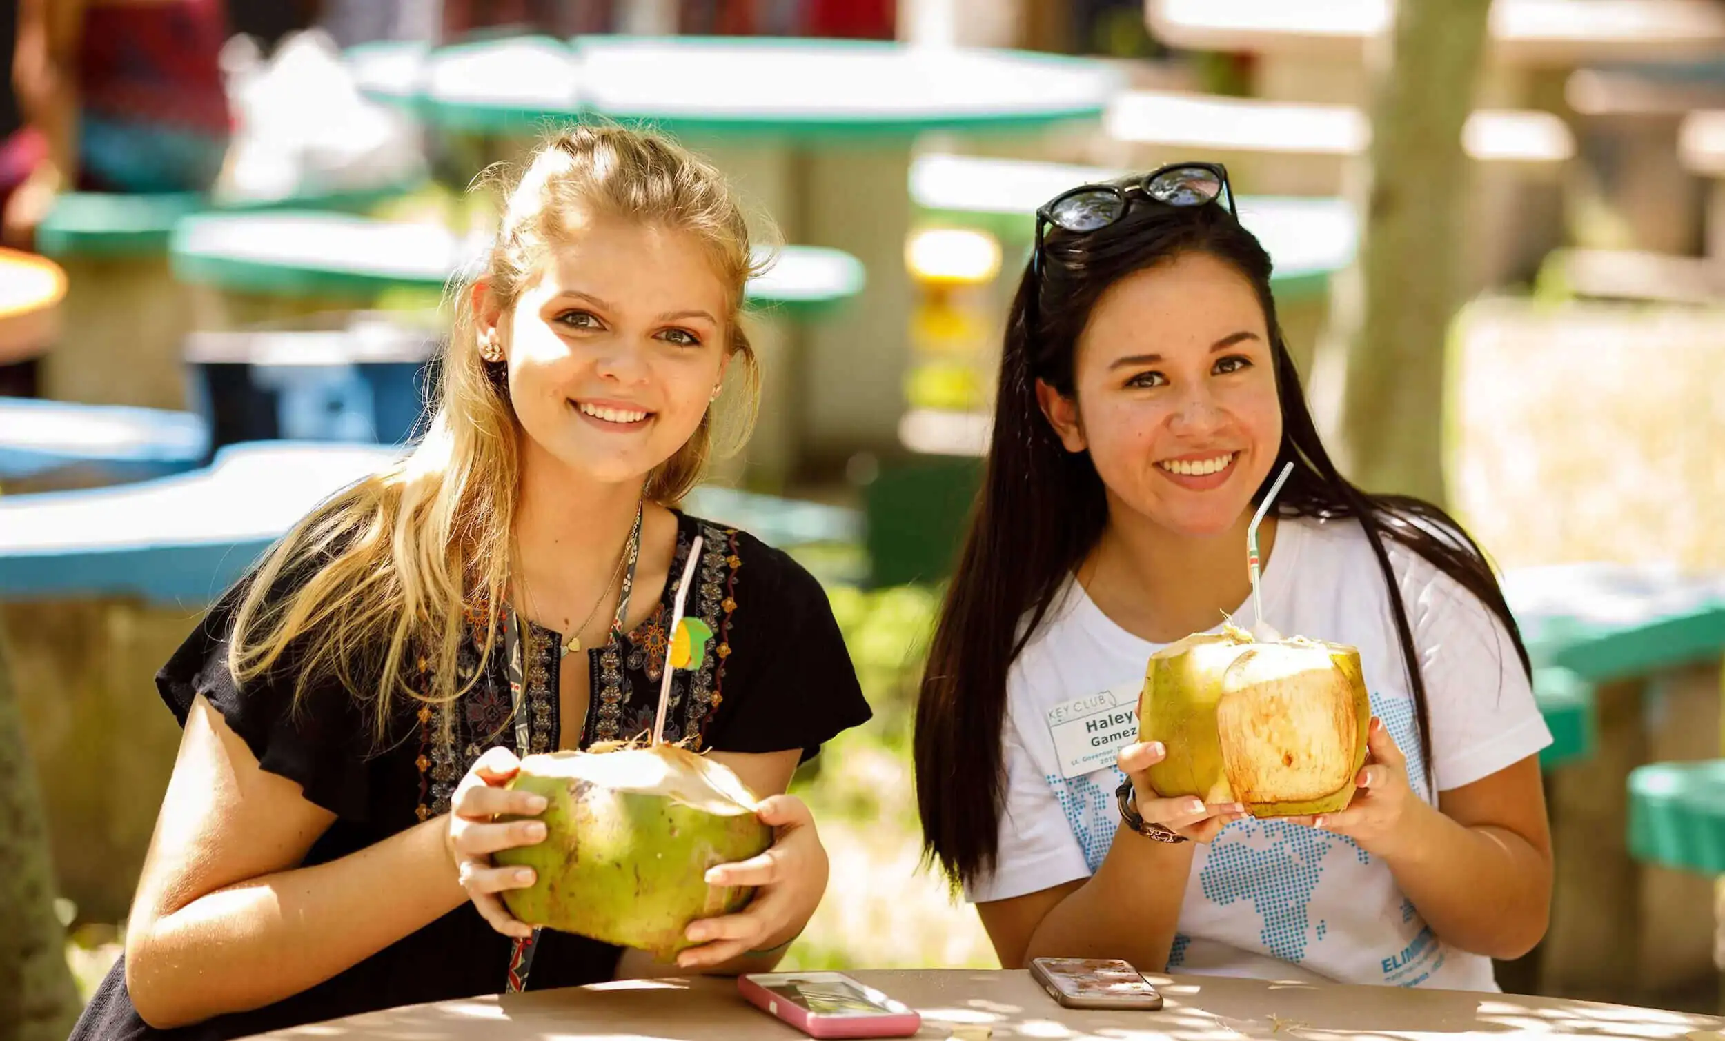
M0 650L0 1041L62 1041L78 1019L53 893L36 772Z

